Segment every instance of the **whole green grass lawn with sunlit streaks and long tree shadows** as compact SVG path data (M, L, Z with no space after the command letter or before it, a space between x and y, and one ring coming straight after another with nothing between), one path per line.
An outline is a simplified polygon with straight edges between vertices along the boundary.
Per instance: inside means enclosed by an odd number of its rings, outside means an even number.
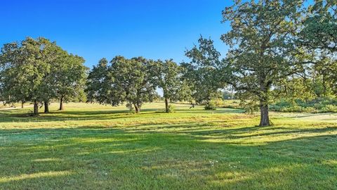
M337 115L150 103L0 110L0 189L337 189Z

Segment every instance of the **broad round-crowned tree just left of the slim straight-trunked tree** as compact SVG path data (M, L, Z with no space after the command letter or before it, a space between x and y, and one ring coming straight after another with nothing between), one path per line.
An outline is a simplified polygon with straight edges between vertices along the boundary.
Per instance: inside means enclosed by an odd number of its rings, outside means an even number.
M128 103L135 107L136 113L140 112L143 103L156 97L153 61L117 56L110 63L107 66L107 61L102 59L89 73L88 101L112 106Z

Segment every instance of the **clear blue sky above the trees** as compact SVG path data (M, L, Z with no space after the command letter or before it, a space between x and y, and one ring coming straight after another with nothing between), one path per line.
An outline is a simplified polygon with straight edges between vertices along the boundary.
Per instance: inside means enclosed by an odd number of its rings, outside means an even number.
M91 67L100 58L121 55L152 59L185 58L199 35L218 50L221 11L229 0L29 0L1 1L0 46L25 37L46 37Z

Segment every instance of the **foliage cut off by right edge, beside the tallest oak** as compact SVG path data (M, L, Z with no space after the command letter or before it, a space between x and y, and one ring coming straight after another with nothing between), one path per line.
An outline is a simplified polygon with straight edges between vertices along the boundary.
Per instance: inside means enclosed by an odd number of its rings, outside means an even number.
M298 44L312 53L312 77L319 81L322 96L337 94L337 3L335 0L315 0L308 7Z

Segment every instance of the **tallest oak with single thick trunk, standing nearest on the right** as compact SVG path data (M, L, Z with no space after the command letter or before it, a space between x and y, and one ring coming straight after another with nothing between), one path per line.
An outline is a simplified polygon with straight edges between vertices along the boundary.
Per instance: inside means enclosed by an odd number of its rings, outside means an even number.
M232 27L221 37L230 46L223 75L246 108L260 107L260 126L270 125L272 86L303 70L294 46L302 6L303 1L234 1L223 11L223 22Z

